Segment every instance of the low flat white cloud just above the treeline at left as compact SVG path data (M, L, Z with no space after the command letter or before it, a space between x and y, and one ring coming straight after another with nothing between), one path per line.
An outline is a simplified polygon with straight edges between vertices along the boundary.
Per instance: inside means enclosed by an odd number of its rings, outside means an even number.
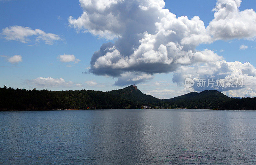
M73 86L73 82L66 82L63 78L52 78L52 77L38 77L33 80L26 80L28 85L34 87L71 87Z

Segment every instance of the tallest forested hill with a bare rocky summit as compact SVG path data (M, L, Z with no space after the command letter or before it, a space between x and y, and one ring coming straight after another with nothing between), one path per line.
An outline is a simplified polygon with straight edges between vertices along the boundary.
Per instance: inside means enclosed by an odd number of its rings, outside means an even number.
M136 86L133 85L130 85L124 89L111 90L108 93L114 97L123 98L132 102L140 102L141 104L153 104L162 101L159 98L142 93Z

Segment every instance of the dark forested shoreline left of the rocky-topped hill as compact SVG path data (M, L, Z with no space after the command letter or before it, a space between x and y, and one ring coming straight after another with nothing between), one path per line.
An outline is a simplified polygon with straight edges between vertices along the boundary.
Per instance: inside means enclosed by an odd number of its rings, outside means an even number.
M120 109L128 100L97 90L25 90L0 88L0 110Z

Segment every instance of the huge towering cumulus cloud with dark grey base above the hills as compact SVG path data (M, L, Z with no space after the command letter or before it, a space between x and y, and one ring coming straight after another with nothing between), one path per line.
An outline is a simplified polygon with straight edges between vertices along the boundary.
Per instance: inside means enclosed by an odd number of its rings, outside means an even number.
M107 39L119 37L93 54L89 69L96 75L118 77L116 85L141 83L179 65L222 59L210 50L196 51L195 42L188 39L205 32L203 21L176 18L163 9L163 0L80 0L80 4L84 13L78 19L70 17L70 26ZM131 73L136 77L127 78Z

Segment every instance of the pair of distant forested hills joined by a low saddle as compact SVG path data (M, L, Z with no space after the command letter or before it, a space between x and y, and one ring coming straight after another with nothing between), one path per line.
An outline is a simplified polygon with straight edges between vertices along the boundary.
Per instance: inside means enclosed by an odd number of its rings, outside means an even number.
M162 108L221 109L224 102L234 99L217 90L204 90L200 93L191 92L175 98L159 99L142 93L133 85L124 89L111 90L108 93L117 98L140 103L140 105Z

